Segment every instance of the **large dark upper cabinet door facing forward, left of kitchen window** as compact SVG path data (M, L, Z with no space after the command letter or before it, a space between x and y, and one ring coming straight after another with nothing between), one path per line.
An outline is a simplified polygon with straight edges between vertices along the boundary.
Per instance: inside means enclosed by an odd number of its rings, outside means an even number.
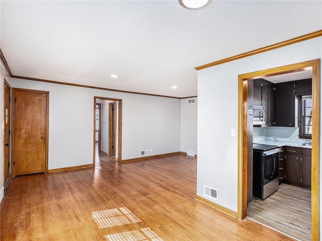
M295 126L293 84L275 86L275 122L276 126Z

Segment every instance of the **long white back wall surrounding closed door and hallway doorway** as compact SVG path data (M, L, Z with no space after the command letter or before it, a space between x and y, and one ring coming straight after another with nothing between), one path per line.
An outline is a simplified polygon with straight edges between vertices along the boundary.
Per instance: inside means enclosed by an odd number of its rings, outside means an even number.
M180 151L180 100L12 78L13 88L49 91L48 169L93 163L94 96L122 99L122 159Z

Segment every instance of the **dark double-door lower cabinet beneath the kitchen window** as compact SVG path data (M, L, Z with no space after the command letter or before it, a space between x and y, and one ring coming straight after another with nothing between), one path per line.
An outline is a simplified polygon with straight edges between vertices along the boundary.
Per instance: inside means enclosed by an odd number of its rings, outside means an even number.
M285 147L285 182L311 188L311 149Z

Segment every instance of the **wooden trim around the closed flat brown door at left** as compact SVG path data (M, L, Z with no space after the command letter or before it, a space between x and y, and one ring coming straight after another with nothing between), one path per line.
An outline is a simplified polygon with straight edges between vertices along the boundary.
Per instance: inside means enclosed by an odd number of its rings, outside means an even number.
M37 91L37 90L27 90L12 88L12 148L11 148L11 163L15 162L15 124L16 124L16 105L15 98L16 93L19 91L23 92L33 92L33 93L43 93L46 95L46 144L45 144L45 173L48 173L48 146L49 146L49 92L48 91ZM15 177L15 167L11 165L12 177Z

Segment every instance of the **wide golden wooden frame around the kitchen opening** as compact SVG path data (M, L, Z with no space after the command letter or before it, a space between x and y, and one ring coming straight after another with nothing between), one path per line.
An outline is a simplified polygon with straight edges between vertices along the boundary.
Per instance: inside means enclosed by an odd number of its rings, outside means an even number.
M237 218L247 217L247 81L312 68L312 177L311 232L312 240L319 239L319 133L320 133L320 60L255 71L238 75L238 189Z

